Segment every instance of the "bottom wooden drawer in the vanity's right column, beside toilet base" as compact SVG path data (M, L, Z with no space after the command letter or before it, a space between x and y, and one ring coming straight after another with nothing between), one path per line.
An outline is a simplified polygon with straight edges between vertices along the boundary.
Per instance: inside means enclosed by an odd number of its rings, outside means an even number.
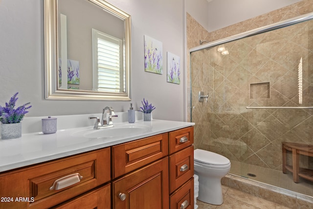
M192 178L171 195L170 209L193 209L194 201L194 178Z

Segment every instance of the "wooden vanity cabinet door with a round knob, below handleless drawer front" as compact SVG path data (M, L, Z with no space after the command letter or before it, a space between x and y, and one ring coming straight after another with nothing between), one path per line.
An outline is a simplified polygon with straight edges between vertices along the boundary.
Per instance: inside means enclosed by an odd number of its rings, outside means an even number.
M168 157L112 182L113 209L168 209Z

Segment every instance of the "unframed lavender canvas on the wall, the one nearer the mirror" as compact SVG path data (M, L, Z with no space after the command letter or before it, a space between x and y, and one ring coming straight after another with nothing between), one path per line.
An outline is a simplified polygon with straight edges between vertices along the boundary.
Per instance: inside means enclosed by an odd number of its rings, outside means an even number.
M145 71L163 74L163 46L149 36L144 36L145 45Z

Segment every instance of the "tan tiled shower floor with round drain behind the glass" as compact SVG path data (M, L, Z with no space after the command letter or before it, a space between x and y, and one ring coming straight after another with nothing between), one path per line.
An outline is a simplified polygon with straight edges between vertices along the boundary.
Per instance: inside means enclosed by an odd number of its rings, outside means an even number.
M229 173L313 197L313 182L300 177L299 183L294 183L289 171L285 174L278 170L231 161ZM255 177L249 174L254 174Z

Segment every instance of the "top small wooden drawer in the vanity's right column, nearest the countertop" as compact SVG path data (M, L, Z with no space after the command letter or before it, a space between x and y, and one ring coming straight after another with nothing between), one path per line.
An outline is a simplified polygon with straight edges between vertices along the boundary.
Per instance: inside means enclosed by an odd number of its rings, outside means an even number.
M194 143L194 127L187 127L169 133L170 154L173 154Z

